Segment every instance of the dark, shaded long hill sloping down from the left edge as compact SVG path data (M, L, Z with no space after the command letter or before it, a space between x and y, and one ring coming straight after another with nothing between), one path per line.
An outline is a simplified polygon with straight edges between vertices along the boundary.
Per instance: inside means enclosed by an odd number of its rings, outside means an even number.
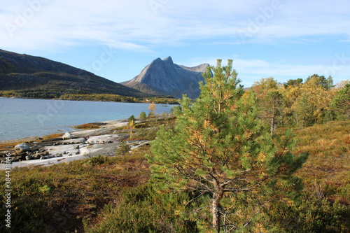
M0 90L15 90L27 97L59 97L62 94L149 96L73 66L5 50L0 50Z

